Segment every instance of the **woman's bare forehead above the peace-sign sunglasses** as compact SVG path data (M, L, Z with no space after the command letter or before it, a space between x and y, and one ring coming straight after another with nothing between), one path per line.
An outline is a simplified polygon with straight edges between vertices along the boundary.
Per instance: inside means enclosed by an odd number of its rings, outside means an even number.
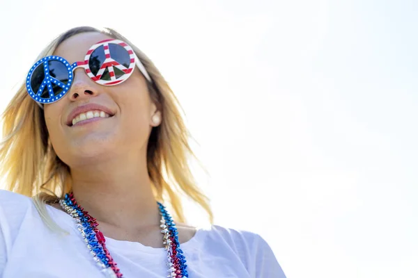
M111 39L111 37L96 32L73 35L61 42L59 47L55 49L53 55L61 56L65 58L65 60L68 60L68 62L74 63L84 60L84 56L86 56L88 49L90 49L93 44L107 39Z

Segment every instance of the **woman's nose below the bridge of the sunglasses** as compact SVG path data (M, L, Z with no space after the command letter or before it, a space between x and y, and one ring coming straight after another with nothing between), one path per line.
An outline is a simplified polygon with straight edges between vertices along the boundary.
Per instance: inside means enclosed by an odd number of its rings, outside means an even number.
M77 72L77 73L76 73ZM68 97L71 101L88 99L98 95L98 84L88 78L87 74L78 70L74 73L74 81L72 82Z

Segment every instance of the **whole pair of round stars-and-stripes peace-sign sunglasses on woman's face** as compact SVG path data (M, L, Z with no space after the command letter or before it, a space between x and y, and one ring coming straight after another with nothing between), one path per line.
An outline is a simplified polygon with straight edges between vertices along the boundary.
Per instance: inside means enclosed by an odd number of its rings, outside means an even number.
M84 68L88 77L100 85L111 86L126 81L135 65L152 83L148 72L132 47L121 40L102 40L88 49L84 61L68 63L60 56L47 56L36 62L26 78L26 89L38 104L59 101L70 90L74 71Z

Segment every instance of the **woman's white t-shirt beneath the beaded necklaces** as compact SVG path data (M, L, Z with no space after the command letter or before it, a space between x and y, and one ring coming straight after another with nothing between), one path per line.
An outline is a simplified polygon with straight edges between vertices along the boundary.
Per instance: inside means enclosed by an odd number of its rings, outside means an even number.
M0 278L103 278L72 217L49 215L69 236L50 231L31 198L0 190ZM106 238L123 277L167 277L167 253L137 242ZM183 243L190 278L286 278L268 244L247 231L212 226Z

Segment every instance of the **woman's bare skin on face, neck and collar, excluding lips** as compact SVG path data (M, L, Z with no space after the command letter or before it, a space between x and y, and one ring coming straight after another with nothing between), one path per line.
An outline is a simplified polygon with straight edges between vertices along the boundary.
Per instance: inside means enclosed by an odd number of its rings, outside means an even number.
M54 52L70 63L84 60L91 45L110 38L81 33ZM114 114L82 126L68 126L77 106L100 104ZM160 215L146 164L150 131L160 111L151 101L146 79L138 69L125 82L104 86L77 69L70 91L45 105L45 122L56 154L70 167L77 202L98 220L104 236L163 247ZM55 206L59 208L59 206ZM193 227L177 223L180 243L192 238Z

